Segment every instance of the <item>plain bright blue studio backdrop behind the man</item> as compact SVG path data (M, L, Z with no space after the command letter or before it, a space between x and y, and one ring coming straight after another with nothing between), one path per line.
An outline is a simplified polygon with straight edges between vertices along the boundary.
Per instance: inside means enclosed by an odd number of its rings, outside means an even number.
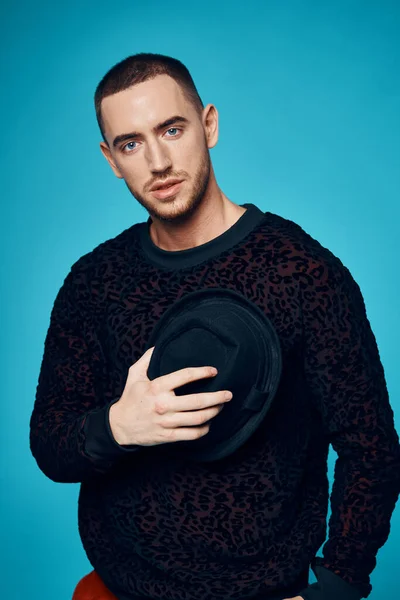
M400 10L3 0L0 22L2 597L69 600L91 570L79 486L47 479L28 445L44 338L71 264L147 218L98 148L98 81L136 52L187 65L220 113L211 156L222 190L299 223L359 283L399 430ZM399 543L397 506L371 600L399 589Z

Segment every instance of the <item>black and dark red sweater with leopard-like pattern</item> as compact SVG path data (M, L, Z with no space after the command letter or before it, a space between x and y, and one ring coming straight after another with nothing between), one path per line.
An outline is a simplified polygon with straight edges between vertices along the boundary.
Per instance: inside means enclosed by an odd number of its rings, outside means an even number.
M57 482L81 482L88 559L120 600L359 599L389 534L400 447L359 286L294 222L254 204L183 251L136 223L77 260L54 302L31 450ZM212 463L173 443L120 446L108 413L175 299L202 287L257 304L281 342L273 406ZM326 538L329 443L338 454ZM318 583L307 586L309 565Z

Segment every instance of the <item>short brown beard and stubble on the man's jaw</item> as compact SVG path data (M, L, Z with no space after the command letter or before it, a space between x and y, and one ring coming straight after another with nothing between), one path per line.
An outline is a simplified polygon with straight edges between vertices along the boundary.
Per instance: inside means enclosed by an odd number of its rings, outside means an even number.
M175 212L171 212L169 211L167 214L165 214L163 211L158 210L158 206L160 207L170 207L171 203L175 203L175 198L169 200L169 201L164 201L160 204L150 204L145 196L143 196L142 194L139 194L136 190L133 189L133 187L131 187L129 185L129 183L125 181L125 184L127 186L127 188L129 189L129 191L131 192L132 196L134 196L134 198L136 198L136 200L139 202L139 204L141 204L143 206L143 208L146 209L146 211L155 219L158 219L160 221L165 221L165 222L169 222L169 223L184 223L185 221L187 221L191 215L193 213L196 212L197 207L201 204L204 195L207 191L208 188L208 183L210 180L210 172L211 172L211 159L210 159L210 152L207 148L207 146L205 147L205 150L203 152L203 156L199 165L199 168L197 170L197 173L195 174L194 178L193 178L193 188L192 190L189 192L189 197L185 199L183 199L180 202L180 206L173 206L173 209ZM188 181L187 178L187 173L185 171L181 171L179 172L169 172L167 174L165 174L165 179L167 179L168 177L182 177L185 179L185 181ZM178 192L179 193L179 192Z

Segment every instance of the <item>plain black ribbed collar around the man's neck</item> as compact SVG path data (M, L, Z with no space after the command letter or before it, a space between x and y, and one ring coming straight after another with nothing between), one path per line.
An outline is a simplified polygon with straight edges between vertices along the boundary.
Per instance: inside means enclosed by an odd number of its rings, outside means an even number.
M229 229L205 244L187 248L186 250L163 250L154 244L150 237L151 217L140 223L139 239L142 251L146 258L153 264L167 269L183 269L202 263L205 260L218 256L221 252L232 248L243 240L261 221L265 213L255 204L240 204L247 210Z

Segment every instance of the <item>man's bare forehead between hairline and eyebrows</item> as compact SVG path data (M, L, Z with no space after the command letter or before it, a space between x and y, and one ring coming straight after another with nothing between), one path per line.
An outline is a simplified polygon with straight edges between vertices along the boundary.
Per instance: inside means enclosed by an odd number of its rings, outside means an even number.
M103 99L101 114L106 134L145 131L171 115L190 118L194 111L182 88L172 77L157 75Z

